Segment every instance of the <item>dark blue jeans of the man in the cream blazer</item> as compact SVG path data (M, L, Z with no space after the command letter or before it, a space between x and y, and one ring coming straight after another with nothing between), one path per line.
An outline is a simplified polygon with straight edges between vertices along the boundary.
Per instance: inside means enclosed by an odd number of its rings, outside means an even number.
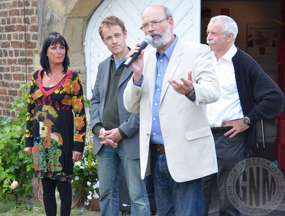
M155 150L152 150L151 155L151 173L159 216L202 215L202 178L176 182L168 171L165 153L158 153Z

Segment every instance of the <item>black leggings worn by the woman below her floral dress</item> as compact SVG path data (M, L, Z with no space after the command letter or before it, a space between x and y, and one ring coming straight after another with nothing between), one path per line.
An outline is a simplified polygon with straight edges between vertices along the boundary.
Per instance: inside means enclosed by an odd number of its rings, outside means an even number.
M47 216L56 216L55 187L61 197L61 216L69 216L72 203L71 183L42 178L44 208Z

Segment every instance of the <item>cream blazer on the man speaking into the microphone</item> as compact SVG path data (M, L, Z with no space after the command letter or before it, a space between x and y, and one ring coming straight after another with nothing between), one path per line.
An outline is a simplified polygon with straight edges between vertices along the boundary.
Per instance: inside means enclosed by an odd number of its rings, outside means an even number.
M150 134L152 101L156 78L156 50L144 56L143 84L124 92L124 105L140 113L141 178L150 174ZM187 79L192 70L195 101L178 94L168 79ZM207 45L178 39L166 69L159 105L159 121L170 174L177 182L189 181L217 172L214 139L209 127L206 105L219 99L220 87Z

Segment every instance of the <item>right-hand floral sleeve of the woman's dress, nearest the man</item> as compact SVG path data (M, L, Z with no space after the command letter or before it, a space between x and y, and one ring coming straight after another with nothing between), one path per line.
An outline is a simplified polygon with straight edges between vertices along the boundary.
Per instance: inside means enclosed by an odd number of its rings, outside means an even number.
M83 152L86 137L86 113L84 109L83 89L77 74L74 76L72 87L71 104L74 111L75 123L73 151Z

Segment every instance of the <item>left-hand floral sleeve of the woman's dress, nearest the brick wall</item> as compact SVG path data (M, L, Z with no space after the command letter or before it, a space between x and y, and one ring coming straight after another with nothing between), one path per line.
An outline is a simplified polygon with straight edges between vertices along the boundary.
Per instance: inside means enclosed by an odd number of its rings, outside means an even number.
M32 77L31 89L29 99L27 101L27 114L26 114L26 133L25 133L25 147L33 147L33 119L35 111L35 101L33 98L35 90L35 75Z

